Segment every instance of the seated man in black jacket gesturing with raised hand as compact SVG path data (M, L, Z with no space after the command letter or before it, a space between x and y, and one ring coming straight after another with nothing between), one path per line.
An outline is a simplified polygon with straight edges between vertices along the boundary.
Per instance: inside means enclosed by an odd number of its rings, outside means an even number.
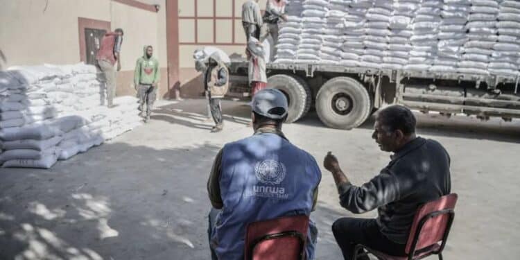
M349 182L331 152L325 157L341 206L355 214L378 210L376 219L340 218L333 223L345 259L352 259L357 244L404 255L417 208L450 193L449 155L437 141L416 137L415 123L413 113L399 105L377 114L372 138L381 150L394 154L388 166L359 187Z

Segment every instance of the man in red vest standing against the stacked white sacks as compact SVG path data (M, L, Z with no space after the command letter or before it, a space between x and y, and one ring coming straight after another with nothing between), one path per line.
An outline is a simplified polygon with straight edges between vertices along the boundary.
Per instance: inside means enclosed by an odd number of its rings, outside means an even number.
M105 82L107 91L107 105L114 107L114 96L116 96L116 69L114 65L117 63L117 71L121 70L121 44L123 43L123 29L116 28L114 32L106 33L101 39L96 60L98 69L103 72L101 81ZM101 105L104 103L104 99Z

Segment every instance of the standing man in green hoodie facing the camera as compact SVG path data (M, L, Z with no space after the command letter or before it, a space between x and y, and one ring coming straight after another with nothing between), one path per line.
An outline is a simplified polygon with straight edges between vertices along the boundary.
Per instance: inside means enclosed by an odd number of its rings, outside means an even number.
M143 52L144 55L137 59L135 64L134 84L139 96L141 116L145 118L145 121L148 121L157 96L157 84L160 78L159 61L153 57L152 46L144 46Z

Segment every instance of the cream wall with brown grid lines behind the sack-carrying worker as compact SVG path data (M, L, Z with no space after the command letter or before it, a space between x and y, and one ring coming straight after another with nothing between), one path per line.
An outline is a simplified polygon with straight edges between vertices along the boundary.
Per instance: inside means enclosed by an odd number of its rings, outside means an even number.
M247 0L179 1L179 67L182 96L200 96L202 76L194 67L193 51L215 46L228 55L244 55L242 4ZM266 0L259 1L260 8Z

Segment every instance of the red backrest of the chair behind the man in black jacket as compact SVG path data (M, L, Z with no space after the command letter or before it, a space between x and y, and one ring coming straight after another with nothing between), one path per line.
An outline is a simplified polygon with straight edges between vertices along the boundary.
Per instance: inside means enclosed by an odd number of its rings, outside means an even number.
M451 193L417 209L406 243L406 254L413 255L416 251L440 241L442 245L439 251L442 251L453 221L456 202L457 194Z

